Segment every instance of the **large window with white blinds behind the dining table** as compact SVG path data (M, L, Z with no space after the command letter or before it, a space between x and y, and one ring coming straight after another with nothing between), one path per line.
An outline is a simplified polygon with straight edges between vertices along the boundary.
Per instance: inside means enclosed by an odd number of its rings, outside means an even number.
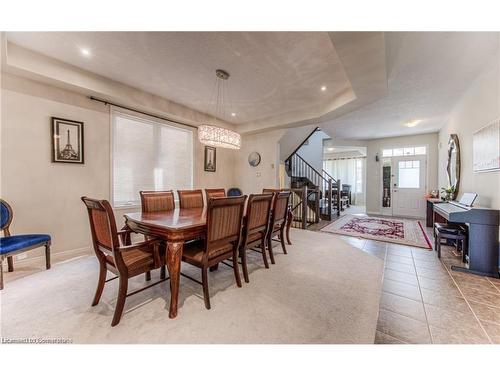
M140 204L141 190L193 186L193 132L127 114L113 113L115 207Z

